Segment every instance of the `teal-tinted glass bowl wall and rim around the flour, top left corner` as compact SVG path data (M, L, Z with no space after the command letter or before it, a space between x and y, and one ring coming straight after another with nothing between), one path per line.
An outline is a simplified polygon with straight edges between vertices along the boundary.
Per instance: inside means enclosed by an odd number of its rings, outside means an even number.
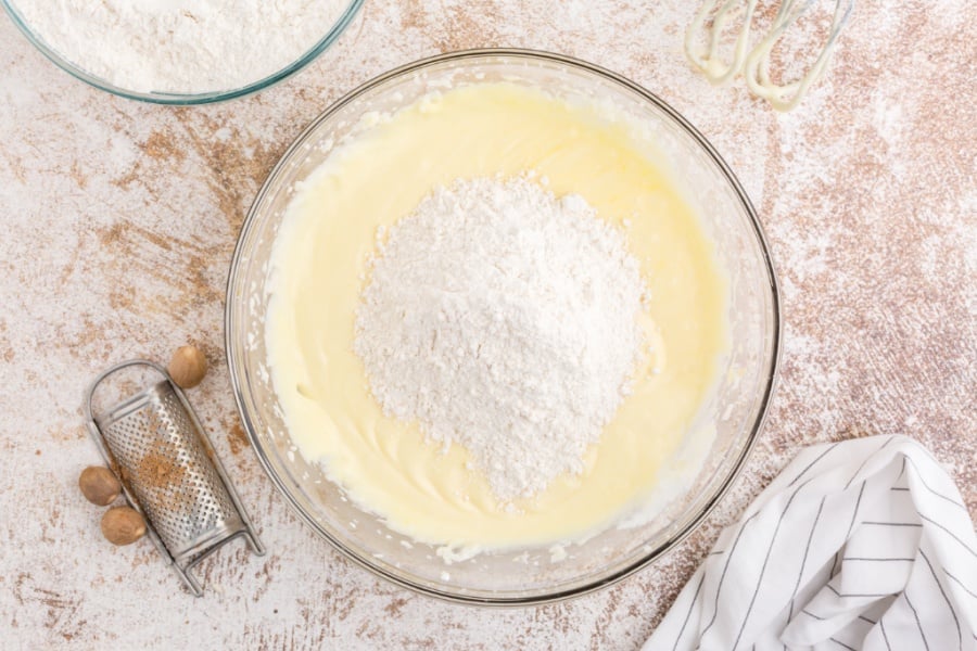
M264 79L258 79L240 88L198 93L179 93L139 92L127 90L125 88L114 86L100 77L96 77L94 75L89 74L71 61L64 59L53 48L48 46L39 35L35 34L27 22L21 16L21 14L17 13L16 8L14 8L14 0L0 0L0 5L2 5L4 10L7 10L7 13L8 15L10 15L10 18L13 21L14 25L16 25L17 28L24 34L24 36L27 37L27 40L29 40L34 44L34 47L40 51L41 54L51 60L54 65L68 73L71 76L75 77L76 79L80 79L86 84L94 86L100 90L111 92L112 94L116 94L120 98L139 100L140 102L150 102L154 104L172 104L177 106L223 102L225 100L232 100L234 98L244 97L275 86L282 79L290 77L291 75L304 68L306 65L312 63L316 59L316 56L325 52L329 46L335 42L340 35L345 30L346 26L348 26L353 18L356 16L356 12L359 11L359 8L363 5L363 3L364 0L350 0L350 4L346 7L345 11L343 11L342 15L340 15L337 22L319 40L319 42L317 42L310 50L308 50L293 63L290 63L286 67L281 68L272 75L265 77Z

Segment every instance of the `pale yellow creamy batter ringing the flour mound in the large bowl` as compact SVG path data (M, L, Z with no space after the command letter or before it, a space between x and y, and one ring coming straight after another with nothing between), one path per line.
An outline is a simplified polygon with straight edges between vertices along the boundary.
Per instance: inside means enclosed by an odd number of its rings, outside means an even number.
M656 341L586 471L499 505L468 454L386 418L353 353L354 312L378 227L457 178L533 170L625 229L650 289ZM429 95L334 151L296 193L276 250L267 348L289 433L363 508L452 548L551 545L606 527L656 489L726 346L712 245L627 129L594 110L509 84Z

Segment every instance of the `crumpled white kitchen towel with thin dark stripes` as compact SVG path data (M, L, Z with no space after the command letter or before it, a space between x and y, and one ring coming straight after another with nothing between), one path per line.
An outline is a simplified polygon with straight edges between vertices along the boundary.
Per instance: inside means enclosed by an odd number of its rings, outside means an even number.
M977 536L919 444L803 449L720 535L645 651L977 650Z

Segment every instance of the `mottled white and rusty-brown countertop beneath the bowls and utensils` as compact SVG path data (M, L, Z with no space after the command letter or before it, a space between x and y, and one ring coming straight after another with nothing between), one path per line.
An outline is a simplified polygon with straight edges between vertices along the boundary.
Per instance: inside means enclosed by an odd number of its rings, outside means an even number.
M368 0L301 74L202 108L89 88L0 20L0 647L634 649L799 446L854 435L923 441L977 514L977 4L858 0L828 76L789 114L690 69L695 4ZM536 609L433 601L316 538L249 448L223 352L234 240L289 142L370 77L480 46L580 56L671 103L739 175L783 291L779 387L720 508L635 576ZM76 488L99 461L85 385L187 341L213 368L191 400L269 548L207 560L202 600L149 541L107 545Z

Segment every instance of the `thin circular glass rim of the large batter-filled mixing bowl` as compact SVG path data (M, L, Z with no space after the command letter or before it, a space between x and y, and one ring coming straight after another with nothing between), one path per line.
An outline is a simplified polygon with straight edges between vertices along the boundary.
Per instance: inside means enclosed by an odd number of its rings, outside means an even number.
M300 152L303 145L306 142L306 139L316 130L316 128L329 119L333 114L344 107L346 104L361 97L363 94L369 92L371 89L385 84L396 77L405 76L410 73L417 73L427 67L439 65L446 62L458 62L470 59L481 59L481 58L512 58L512 59L524 59L524 60L535 60L543 61L548 63L556 63L569 67L573 67L576 69L582 69L587 73L594 73L599 77L602 77L605 80L616 82L617 85L623 87L625 90L630 90L642 99L650 102L657 108L661 110L665 113L671 119L678 125L687 136L691 137L694 141L698 143L698 145L710 156L710 158L719 167L722 175L725 177L726 181L729 183L731 188L736 193L738 201L741 203L743 207L746 209L747 215L749 216L750 226L752 227L753 235L757 238L757 242L760 247L760 252L763 256L763 264L767 273L767 279L770 280L770 296L771 296L771 306L772 306L772 324L773 324L773 336L772 336L772 350L769 362L769 369L765 378L765 386L763 387L763 395L760 400L759 410L757 413L757 418L750 426L749 436L746 441L746 445L743 446L738 458L735 460L726 476L723 477L719 487L715 489L714 494L710 496L706 505L699 510L698 513L694 514L685 526L682 527L681 531L672 535L664 544L656 547L655 549L642 554L637 560L629 563L626 566L618 570L609 575L602 576L600 578L596 578L591 580L584 585L570 588L570 589L561 589L561 590L553 590L549 592L540 591L536 595L522 596L522 597L497 597L497 598L486 598L486 597L475 597L471 595L465 595L461 592L452 592L448 590L440 590L436 588L432 588L429 585L423 585L420 583L411 582L408 578L403 576L398 576L389 572L382 566L375 564L368 557L357 553L356 550L347 547L341 539L338 539L330 532L321 527L318 522L307 513L299 503L299 501L292 496L284 480L280 477L275 470L270 459L268 458L263 443L258 438L256 433L256 429L254 423L251 420L251 416L245 408L244 400L244 387L240 382L241 379L241 370L238 368L238 363L236 360L236 353L238 348L243 344L243 342L234 341L231 336L233 331L232 327L234 324L234 316L233 310L237 304L232 302L232 292L234 286L239 282L240 271L241 271L241 261L243 257L243 243L245 241L245 235L248 235L249 231L253 227L254 222L257 219L257 206L259 206L269 191L269 188L275 186L275 181L278 177L284 171L284 168L288 163L291 162L293 155ZM757 215L757 210L753 208L753 204L750 202L749 197L746 194L743 186L739 180L736 178L736 175L733 174L733 170L723 159L723 157L719 154L719 152L712 146L712 144L696 129L688 120L686 120L677 111L672 108L664 100L660 99L655 93L646 90L644 87L638 84L631 81L626 77L608 71L601 66L572 58L563 54L556 54L553 52L547 52L543 50L530 50L522 48L479 48L471 50L459 50L455 52L446 52L443 54L437 54L434 56L429 56L424 59L417 60L411 63L407 63L405 65L395 67L391 71L388 71L368 81L361 84L356 87L352 91L345 93L338 100L335 100L332 104L330 104L322 113L320 113L313 122L292 141L289 145L288 150L281 155L281 157L276 163L275 167L268 174L265 179L262 188L258 190L254 202L251 205L251 208L248 212L248 215L244 218L244 221L241 225L241 232L238 237L238 242L234 246L233 256L231 258L230 265L230 273L228 275L227 280L227 303L225 306L225 350L227 355L228 362L228 371L231 379L231 386L234 394L234 401L238 406L238 412L241 416L241 420L244 424L244 430L248 433L248 437L251 441L252 448L255 451L255 455L258 458L258 462L262 468L265 470L265 474L271 480L271 483L278 489L278 492L284 497L286 502L292 509L292 511L299 515L299 518L305 522L308 526L313 528L321 538L326 539L337 551L339 551L346 559L353 561L355 564L364 567L376 576L382 577L397 586L407 588L415 592L419 592L421 595L426 595L428 597L434 597L436 599L441 599L443 601L454 602L454 603L462 603L469 605L485 605L485 607L525 607L525 605L540 605L545 603L555 603L558 601L564 601L568 599L573 599L576 597L582 597L584 595L588 595L591 592L595 592L602 588L609 587L613 584L617 584L624 578L631 576L635 572L642 570L647 566L651 562L661 558L670 550L672 550L675 546L682 542L691 532L699 527L702 521L712 512L712 510L716 507L720 500L725 496L728 492L729 486L739 476L743 468L746 463L747 458L752 451L759 433L763 426L763 423L766 420L767 412L770 409L770 404L773 398L774 391L776 390L776 384L779 375L779 367L781 367L781 352L782 352L782 333L783 333L783 316L781 314L781 298L779 298L779 283L777 280L776 269L774 267L773 260L770 255L770 245L767 243L766 237L763 232L763 228L760 224L759 217Z

